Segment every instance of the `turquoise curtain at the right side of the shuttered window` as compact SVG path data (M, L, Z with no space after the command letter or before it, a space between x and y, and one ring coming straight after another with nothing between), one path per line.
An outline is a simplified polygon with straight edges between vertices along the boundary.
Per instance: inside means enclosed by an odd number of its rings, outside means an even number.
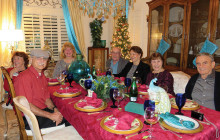
M77 54L81 54L81 51L79 49L79 44L77 42L76 34L75 34L75 31L72 26L72 21L70 18L68 4L67 4L66 0L62 0L62 6L63 6L63 14L64 14L64 18L65 18L68 38L69 38L70 42L75 46Z

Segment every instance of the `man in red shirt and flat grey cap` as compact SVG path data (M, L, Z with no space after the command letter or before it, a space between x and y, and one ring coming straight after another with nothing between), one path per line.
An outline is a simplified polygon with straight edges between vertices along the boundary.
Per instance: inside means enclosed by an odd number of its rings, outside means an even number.
M50 99L48 83L43 73L49 54L40 49L31 50L31 66L19 74L14 81L16 96L25 96L30 103L31 111L36 115L39 127L48 128L69 123ZM25 129L29 130L27 120L23 117Z

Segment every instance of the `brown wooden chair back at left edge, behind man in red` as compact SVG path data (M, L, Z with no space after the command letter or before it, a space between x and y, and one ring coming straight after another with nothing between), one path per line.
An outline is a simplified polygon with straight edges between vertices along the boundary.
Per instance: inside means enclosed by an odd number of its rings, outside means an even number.
M16 94L15 94L15 89L14 89L14 85L12 83L12 80L11 80L7 70L3 66L1 66L1 70L2 70L2 73L3 73L4 77L8 81L11 97L12 97L12 100L13 100L15 98ZM17 108L16 105L14 105L14 108L15 108L16 117L17 117L17 120L18 120L18 123L19 123L20 139L27 140L28 136L27 136L27 133L25 131L25 125L24 125L24 120L23 120L23 116L21 114L21 111Z

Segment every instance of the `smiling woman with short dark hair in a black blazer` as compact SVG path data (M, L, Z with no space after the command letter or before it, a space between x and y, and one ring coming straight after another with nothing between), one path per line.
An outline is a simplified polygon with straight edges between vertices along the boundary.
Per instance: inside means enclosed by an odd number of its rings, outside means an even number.
M150 66L141 61L142 56L142 49L138 46L132 46L130 49L130 59L132 62L127 63L124 69L119 74L114 74L114 76L131 79L133 76L139 77L142 84L145 83L147 74L150 72Z

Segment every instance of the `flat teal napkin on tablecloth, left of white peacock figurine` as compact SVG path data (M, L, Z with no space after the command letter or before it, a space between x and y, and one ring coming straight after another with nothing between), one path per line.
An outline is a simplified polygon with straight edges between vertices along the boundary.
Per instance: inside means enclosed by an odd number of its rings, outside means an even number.
M129 102L125 106L125 111L136 113L136 114L140 114L140 115L144 115L144 105L143 104Z

